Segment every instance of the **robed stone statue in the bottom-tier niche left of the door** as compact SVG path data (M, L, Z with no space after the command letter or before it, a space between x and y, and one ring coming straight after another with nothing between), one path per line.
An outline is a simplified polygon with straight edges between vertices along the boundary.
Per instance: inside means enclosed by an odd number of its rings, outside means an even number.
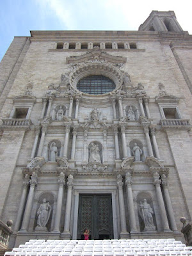
M37 227L36 230L47 230L46 225L49 221L51 214L51 205L47 202L46 198L43 199L42 204L38 208L37 214Z

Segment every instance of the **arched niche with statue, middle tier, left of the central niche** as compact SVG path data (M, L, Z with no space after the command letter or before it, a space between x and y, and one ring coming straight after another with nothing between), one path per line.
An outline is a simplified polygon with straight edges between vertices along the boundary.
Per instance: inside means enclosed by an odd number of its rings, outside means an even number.
M56 157L60 157L60 154L61 154L61 141L60 140L49 141L48 143L49 161L56 162Z

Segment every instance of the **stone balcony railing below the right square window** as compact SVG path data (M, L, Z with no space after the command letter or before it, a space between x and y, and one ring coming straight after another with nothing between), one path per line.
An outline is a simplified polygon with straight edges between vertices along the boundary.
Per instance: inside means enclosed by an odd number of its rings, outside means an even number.
M161 119L162 128L190 129L189 119Z

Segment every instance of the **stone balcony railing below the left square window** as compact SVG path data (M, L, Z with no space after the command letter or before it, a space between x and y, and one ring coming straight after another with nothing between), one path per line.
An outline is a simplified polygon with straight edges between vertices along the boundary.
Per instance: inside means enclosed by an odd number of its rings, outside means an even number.
M23 119L23 118L6 118L2 119L3 129L10 129L10 128L24 128L29 129L31 125L31 119Z

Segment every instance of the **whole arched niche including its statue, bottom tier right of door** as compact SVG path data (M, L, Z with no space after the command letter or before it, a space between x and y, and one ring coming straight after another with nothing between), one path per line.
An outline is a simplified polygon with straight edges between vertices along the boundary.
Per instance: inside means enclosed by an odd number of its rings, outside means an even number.
M140 230L155 231L157 224L156 216L154 214L154 204L152 201L152 196L150 195L150 193L148 193L148 191L140 191L140 193L138 193L138 195L136 196L136 202L138 205L138 219L140 223ZM147 205L143 209L141 205L143 205L144 202L146 202ZM150 218L150 221L146 220L147 218Z

